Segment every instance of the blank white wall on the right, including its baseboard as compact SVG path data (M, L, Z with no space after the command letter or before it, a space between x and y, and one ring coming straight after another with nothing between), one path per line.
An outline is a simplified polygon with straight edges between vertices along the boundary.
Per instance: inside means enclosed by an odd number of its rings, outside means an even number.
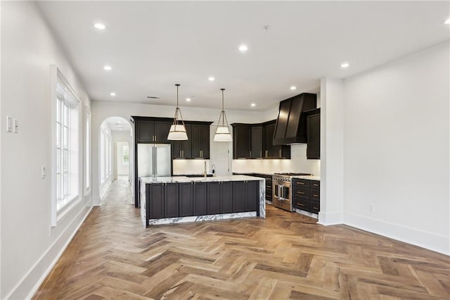
M345 80L345 223L444 254L449 54L446 42Z

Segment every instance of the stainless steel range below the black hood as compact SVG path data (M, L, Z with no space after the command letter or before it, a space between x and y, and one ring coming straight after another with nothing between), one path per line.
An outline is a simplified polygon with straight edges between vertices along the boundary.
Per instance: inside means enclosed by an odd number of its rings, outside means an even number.
M311 175L308 173L275 173L272 175L272 205L285 211L293 211L293 176Z

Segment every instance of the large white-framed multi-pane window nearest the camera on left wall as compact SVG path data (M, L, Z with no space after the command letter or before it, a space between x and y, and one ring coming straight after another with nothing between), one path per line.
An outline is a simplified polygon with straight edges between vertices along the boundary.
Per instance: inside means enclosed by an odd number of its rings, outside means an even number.
M59 70L54 94L53 225L79 196L79 97Z

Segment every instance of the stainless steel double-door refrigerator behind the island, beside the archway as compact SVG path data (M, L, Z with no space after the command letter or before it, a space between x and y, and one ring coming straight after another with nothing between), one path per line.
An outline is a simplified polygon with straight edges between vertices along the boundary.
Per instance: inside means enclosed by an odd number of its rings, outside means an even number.
M137 174L139 177L172 176L172 158L170 144L138 144L137 145ZM141 207L139 196L139 182L136 182L135 206Z

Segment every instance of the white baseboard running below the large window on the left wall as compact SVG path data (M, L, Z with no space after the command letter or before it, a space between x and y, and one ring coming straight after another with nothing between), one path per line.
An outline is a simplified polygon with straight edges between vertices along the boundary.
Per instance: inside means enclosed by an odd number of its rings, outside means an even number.
M88 200L88 202L91 199ZM83 206L68 227L60 234L49 249L34 263L22 280L15 286L13 291L5 299L31 299L39 286L44 282L51 269L56 264L64 250L67 248L77 230L82 225L92 206ZM50 261L50 263L49 263Z

